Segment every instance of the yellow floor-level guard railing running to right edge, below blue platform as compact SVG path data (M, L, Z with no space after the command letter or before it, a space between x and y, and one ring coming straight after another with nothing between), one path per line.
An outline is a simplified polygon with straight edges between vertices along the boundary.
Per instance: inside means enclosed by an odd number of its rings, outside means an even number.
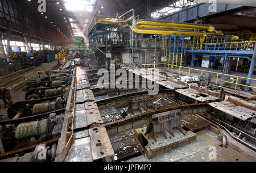
M230 83L231 85L234 86L235 91L237 90L237 88L239 86L256 89L255 86L248 86L248 85L244 85L242 83L238 83L238 81L241 81L241 79L250 79L251 81L256 81L256 79L246 78L246 77L239 77L237 75L217 73L217 72L214 72L214 71L194 69L194 68L191 68L191 67L184 67L184 66L166 64L166 63L164 63L164 64L141 64L141 65L134 65L134 66L143 67L144 69L154 69L154 65L158 69L170 69L171 73L176 71L179 74L179 77L180 77L180 73L188 74L188 76L190 77L191 73L195 72L195 71L199 71L199 73L201 75L204 75L205 73L215 74L216 75L216 79L214 80L215 85L220 85L220 82ZM223 80L222 77L232 77L234 79L234 82Z

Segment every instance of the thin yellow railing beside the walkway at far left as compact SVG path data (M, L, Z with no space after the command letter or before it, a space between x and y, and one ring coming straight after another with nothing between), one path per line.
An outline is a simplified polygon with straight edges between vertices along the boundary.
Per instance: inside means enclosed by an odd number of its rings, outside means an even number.
M13 87L13 85L14 85L14 83L16 83L16 81L18 83L22 82L23 80L25 81L26 80L25 72L29 71L29 70L32 70L32 69L35 70L35 66L30 67L26 70L19 70L19 71L16 71L14 73L10 73L10 74L7 74L7 75L4 75L4 76L0 77L0 88L1 87L6 87L6 86L9 86L9 85L11 87ZM35 76L36 76L36 70L35 70Z

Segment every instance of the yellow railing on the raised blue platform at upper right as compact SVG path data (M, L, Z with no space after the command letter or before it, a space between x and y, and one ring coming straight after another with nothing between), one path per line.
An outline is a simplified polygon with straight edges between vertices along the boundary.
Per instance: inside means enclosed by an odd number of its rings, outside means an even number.
M232 51L241 51L240 53L246 54L246 50L254 50L256 41L230 41L230 42L207 42L207 43L191 43L187 42L185 50L199 50L199 52L221 52L232 53ZM203 51L204 50L204 51Z

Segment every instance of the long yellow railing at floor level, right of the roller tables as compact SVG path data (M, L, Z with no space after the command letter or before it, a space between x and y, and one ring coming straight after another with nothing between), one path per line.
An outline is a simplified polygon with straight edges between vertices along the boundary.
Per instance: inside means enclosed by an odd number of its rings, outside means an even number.
M218 84L218 77L220 77L220 76L233 77L234 79L236 79L236 83L230 82L230 81L221 80L221 79L219 81L226 82L226 83L232 83L233 85L235 85L235 88L234 88L235 91L237 90L238 86L245 86L245 87L250 87L250 88L255 88L256 89L256 87L254 87L254 86L247 86L247 85L243 85L241 83L238 83L239 79L250 79L252 81L256 81L256 79L252 79L252 78L239 77L237 75L217 73L217 72L208 71L208 70L193 69L191 67L184 67L184 66L172 65L172 64L155 64L155 65L156 65L156 67L159 66L159 65L162 65L162 66L164 65L164 67L157 67L157 68L158 69L170 69L171 73L172 73L172 71L177 71L179 73L179 76L180 76L180 73L182 72L182 73L188 74L188 76L190 77L192 70L200 71L201 75L203 75L204 73L216 74L217 76L216 76L215 85ZM144 66L144 69L154 69L154 64L141 64L141 65L134 65L134 66ZM147 66L152 66L152 67L147 67ZM181 70L181 69L183 69L183 70Z

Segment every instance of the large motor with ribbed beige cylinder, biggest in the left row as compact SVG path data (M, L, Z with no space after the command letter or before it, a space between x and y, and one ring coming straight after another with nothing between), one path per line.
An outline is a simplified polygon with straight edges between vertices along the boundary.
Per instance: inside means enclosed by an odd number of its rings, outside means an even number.
M48 118L12 126L0 125L0 137L5 151L19 149L60 137L64 115L51 113Z

